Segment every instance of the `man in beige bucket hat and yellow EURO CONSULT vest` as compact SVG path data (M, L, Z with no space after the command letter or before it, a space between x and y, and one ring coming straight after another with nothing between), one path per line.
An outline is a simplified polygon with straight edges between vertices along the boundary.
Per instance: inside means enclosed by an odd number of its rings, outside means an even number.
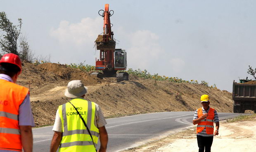
M71 100L57 110L50 152L95 152L99 136L98 152L106 152L107 122L100 107L84 99L87 91L80 80L68 83L65 96Z

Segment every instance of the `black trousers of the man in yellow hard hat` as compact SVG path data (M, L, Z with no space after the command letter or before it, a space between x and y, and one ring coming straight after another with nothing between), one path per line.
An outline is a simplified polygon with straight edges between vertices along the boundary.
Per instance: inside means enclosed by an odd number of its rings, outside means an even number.
M213 136L204 137L204 136L197 135L197 144L199 147L198 152L204 152L204 147L205 147L205 152L211 152L212 143L213 143Z

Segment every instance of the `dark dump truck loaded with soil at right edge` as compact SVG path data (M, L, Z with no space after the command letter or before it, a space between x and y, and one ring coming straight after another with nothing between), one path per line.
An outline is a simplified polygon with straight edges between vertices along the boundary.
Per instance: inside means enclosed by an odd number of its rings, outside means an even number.
M246 84L250 81L247 79L239 81L239 83L233 81L234 113L244 113L245 110L252 110L256 113L256 84Z

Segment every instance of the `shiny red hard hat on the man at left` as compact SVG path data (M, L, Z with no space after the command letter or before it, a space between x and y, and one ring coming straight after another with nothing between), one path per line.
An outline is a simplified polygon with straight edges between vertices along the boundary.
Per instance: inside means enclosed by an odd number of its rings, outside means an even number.
M8 53L2 56L0 60L1 63L10 63L10 64L15 64L21 69L21 60L18 55L13 54L13 53Z

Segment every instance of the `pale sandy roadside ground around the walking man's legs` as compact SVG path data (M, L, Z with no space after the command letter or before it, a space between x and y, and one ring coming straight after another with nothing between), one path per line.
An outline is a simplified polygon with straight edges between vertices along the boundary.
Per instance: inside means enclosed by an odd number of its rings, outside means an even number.
M219 135L214 136L211 152L252 152L256 147L256 118L253 121L220 122ZM135 152L198 152L196 128L190 128L126 151Z

